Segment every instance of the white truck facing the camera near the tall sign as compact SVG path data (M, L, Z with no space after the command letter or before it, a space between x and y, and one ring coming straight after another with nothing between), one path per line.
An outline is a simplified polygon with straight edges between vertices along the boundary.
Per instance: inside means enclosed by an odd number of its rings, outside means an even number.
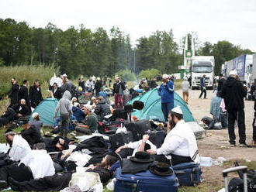
M200 87L200 78L206 75L206 87L213 89L214 80L214 57L213 56L195 56L192 57L191 77L192 89Z

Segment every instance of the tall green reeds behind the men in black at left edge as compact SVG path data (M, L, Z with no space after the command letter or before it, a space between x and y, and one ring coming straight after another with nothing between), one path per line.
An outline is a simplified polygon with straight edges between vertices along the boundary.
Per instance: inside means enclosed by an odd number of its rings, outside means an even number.
M54 73L59 74L59 67L56 68L54 65L0 67L0 95L9 94L12 77L16 77L19 85L22 85L23 81L27 80L30 86L36 79L40 81L40 84L45 84L54 76Z

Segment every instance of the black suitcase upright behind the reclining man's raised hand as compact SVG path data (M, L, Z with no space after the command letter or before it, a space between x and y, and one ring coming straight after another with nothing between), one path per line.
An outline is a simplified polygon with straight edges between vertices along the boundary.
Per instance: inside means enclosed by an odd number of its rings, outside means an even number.
M153 131L150 122L145 119L137 122L128 122L124 126L126 127L127 131L133 133L134 142L142 139L145 132L149 130Z

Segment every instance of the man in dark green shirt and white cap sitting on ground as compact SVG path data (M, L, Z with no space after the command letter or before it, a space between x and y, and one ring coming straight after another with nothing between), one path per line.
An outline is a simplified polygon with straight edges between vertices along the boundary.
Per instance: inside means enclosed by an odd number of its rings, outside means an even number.
M85 111L85 114L88 115L86 125L78 124L78 122L76 122L77 127L75 129L77 132L83 132L86 135L90 135L98 130L98 118L97 115L92 112L92 107L90 105L86 105L83 110Z

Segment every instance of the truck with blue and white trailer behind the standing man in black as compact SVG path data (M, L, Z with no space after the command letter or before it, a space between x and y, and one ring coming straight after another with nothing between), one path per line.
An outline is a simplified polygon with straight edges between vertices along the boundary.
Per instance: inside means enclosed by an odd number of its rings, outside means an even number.
M246 84L254 84L252 57L252 55L244 54L225 62L223 75L228 77L230 70L235 69L237 70L240 81L243 81Z

